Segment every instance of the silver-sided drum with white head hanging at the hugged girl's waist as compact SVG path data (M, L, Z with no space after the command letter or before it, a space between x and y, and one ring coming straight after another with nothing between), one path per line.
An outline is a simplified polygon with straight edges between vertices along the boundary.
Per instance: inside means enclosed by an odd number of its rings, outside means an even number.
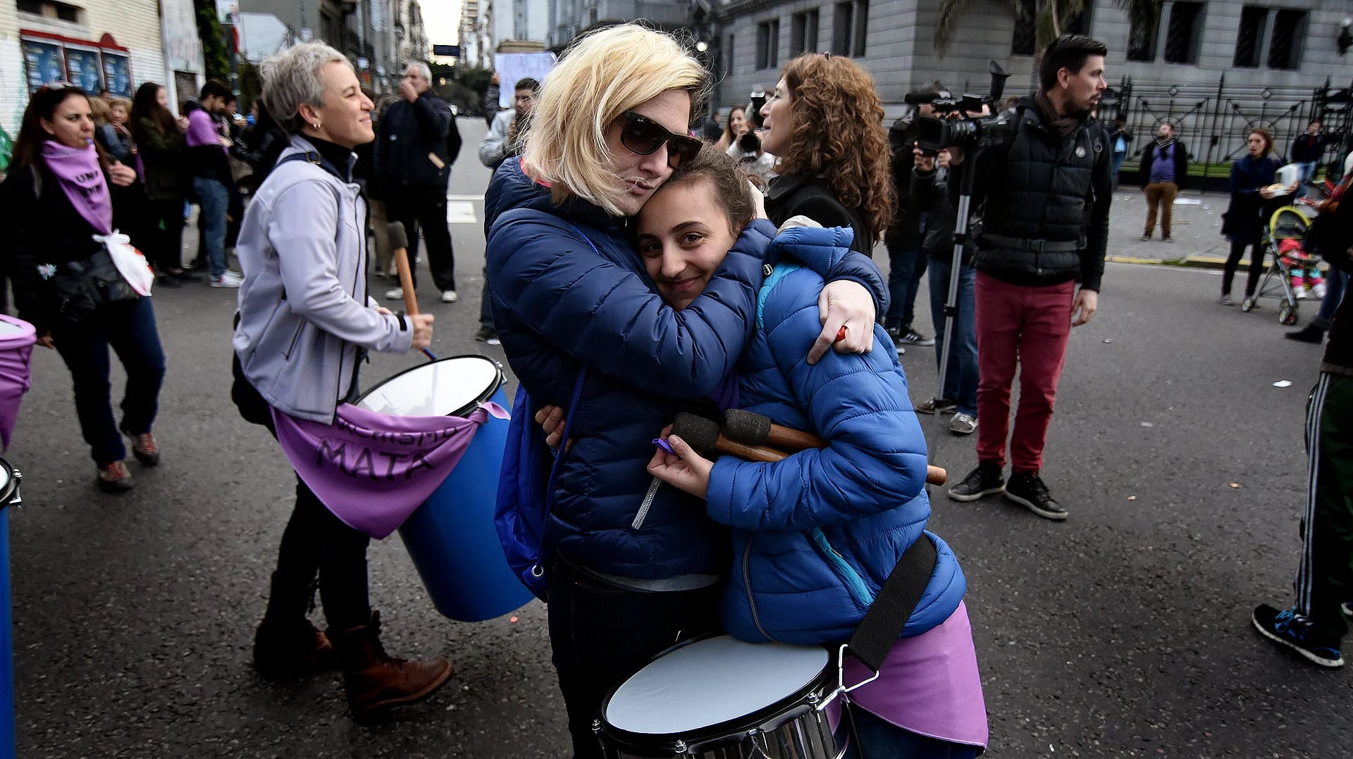
M606 759L838 759L825 648L702 637L660 653L602 704Z

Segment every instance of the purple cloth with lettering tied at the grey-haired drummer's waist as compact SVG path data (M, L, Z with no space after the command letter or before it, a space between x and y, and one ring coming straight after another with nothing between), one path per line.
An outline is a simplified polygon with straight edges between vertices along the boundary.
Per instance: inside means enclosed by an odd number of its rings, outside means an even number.
M507 418L494 402L468 417L395 417L344 403L333 425L272 410L277 442L300 479L344 524L375 538L428 501L490 414Z

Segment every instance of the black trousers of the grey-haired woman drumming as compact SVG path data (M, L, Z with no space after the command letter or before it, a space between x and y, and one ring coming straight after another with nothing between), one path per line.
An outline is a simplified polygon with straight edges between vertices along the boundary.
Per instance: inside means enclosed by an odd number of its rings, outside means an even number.
M369 544L371 536L334 517L298 476L296 506L277 547L277 574L268 597L268 620L287 622L304 618L318 574L319 599L330 629L346 630L369 622Z

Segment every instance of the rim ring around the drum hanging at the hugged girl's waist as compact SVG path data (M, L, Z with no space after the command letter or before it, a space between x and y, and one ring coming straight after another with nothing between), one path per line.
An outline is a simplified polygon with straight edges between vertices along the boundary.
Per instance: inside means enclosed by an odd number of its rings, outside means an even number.
M667 656L668 653L679 648L693 645L702 640L724 637L727 635L728 633L724 632L710 632L683 640L676 645L671 645L663 649L648 662L644 662L644 667L652 664L653 662L662 659L663 656ZM832 655L831 649L828 648L827 652L828 652L827 664L823 667L823 671L819 672L817 676L815 676L812 681L808 682L808 685L798 689L797 691L781 698L779 701L775 701L774 704L762 706L760 709L750 714L743 714L732 720L725 720L723 722L716 722L713 725L706 725L704 728L685 731L679 733L636 733L626 731L624 728L617 728L616 725L612 725L609 720L606 720L606 710L610 706L612 697L616 695L616 693L621 689L621 686L629 682L629 678L625 678L625 681L613 687L610 693L606 694L606 698L602 699L601 702L601 714L598 716L599 732L607 739L620 744L620 745L613 745L610 748L617 748L620 751L624 751L626 754L633 754L636 756L652 756L653 759L662 759L664 756L681 756L682 754L685 754L685 752L678 752L675 750L676 743L682 743L687 748L687 751L700 747L708 750L712 747L712 744L716 743L721 743L725 740L735 740L735 739L740 740L743 737L747 737L747 733L750 731L767 727L767 722L770 720L774 720L775 717L785 717L783 721L770 725L771 728L779 727L787 721L801 718L804 716L802 713L798 713L796 716L790 714L792 712L794 712L793 708L796 705L808 704L806 697L809 694L823 693L825 695L831 690L832 671L836 667L835 667L835 656ZM636 670L635 675L641 672L644 667ZM630 678L635 675L630 675ZM663 754L653 754L655 751Z

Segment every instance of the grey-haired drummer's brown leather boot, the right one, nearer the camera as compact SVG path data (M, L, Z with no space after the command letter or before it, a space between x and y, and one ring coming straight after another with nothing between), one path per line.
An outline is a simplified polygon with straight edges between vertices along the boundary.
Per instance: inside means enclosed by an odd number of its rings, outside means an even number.
M342 632L329 630L342 662L348 708L359 722L375 721L395 706L428 698L451 678L445 659L409 662L392 659L380 645L380 613L371 624Z

